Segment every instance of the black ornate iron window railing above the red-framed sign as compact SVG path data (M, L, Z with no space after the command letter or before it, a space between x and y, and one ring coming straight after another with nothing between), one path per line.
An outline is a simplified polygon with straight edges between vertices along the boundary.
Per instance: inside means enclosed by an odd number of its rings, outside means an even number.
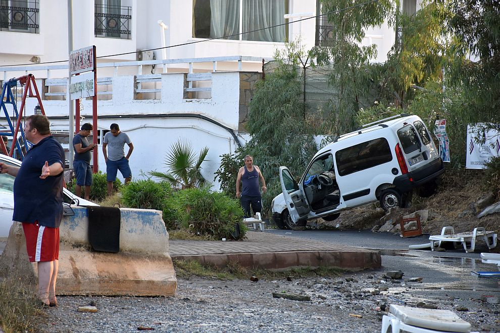
M131 39L132 7L95 5L95 37Z

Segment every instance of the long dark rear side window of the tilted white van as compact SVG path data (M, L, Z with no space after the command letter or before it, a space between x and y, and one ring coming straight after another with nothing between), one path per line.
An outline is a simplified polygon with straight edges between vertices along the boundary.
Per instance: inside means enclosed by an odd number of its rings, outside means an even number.
M335 153L339 176L349 175L392 160L389 143L379 138L344 148Z

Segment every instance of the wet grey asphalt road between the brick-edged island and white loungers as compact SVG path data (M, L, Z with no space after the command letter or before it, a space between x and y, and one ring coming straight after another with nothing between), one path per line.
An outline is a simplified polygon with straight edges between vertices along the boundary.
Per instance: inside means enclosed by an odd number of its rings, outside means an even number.
M478 279L471 271L491 271L496 267L484 264L480 252L488 252L485 245L476 245L474 253L465 253L462 248L447 249L445 252L429 250L409 250L408 245L424 244L428 236L402 238L392 233L372 233L371 231L340 231L340 230L266 230L268 233L332 242L341 245L358 246L377 249L382 254L380 271L402 270L405 278L424 278L419 293L424 296L440 297L453 295L455 297L477 298L483 293L500 292L498 279ZM438 292L442 290L442 292Z

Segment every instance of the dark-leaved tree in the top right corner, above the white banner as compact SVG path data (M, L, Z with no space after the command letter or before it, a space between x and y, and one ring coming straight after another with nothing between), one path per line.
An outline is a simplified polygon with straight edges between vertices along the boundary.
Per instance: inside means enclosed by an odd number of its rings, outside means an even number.
M453 2L451 12L446 29L460 56L449 66L452 83L463 86L478 121L500 124L500 3L460 0Z

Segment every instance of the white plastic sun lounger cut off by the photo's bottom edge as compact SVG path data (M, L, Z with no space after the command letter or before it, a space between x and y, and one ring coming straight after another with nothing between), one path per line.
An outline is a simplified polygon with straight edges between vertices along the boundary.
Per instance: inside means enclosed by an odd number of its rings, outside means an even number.
M449 310L421 309L393 305L382 317L381 333L444 333L471 331L471 324Z

